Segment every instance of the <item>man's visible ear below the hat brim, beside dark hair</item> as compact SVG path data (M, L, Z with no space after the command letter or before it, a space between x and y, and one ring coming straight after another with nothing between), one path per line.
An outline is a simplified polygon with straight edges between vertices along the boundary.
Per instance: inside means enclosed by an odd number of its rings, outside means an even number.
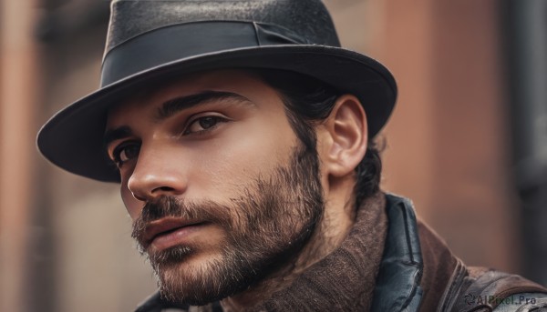
M328 176L346 176L366 153L368 131L361 102L352 95L338 97L324 123L322 161Z

